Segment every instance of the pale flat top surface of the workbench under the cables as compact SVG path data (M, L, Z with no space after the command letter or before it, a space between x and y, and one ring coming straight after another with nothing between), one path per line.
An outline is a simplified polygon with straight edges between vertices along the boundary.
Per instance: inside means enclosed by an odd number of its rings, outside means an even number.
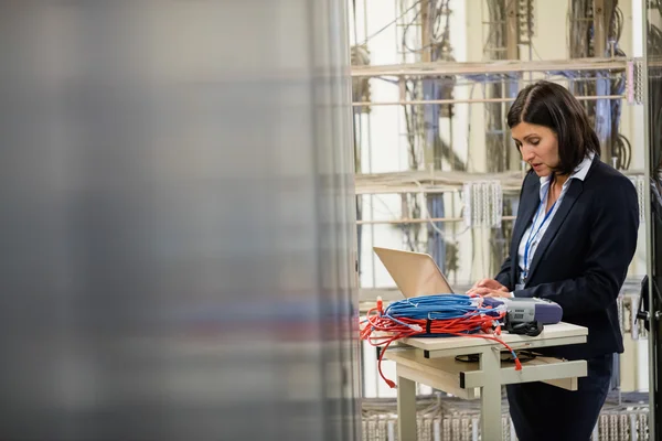
M588 335L588 329L578 326L570 323L557 323L545 325L543 332L535 336L528 335L515 335L502 332L500 338L509 345L533 344L536 347L542 346L557 346L562 344L568 344L568 340L580 340L583 343L586 341ZM579 337L579 338L577 338ZM457 348L483 348L485 346L501 345L501 343L493 340L481 338L477 336L457 336L457 337L414 337L403 338L403 344L418 347L424 351L445 351L445 349L457 349ZM570 343L572 344L572 343Z

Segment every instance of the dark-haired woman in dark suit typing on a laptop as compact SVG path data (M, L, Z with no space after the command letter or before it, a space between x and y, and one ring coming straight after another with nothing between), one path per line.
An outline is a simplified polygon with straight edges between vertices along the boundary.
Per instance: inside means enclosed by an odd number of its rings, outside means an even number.
M637 247L637 191L599 160L598 137L564 87L527 86L508 125L531 170L510 257L494 279L469 292L549 299L563 308L565 322L588 327L586 344L545 351L588 362L577 391L530 383L508 386L508 398L521 441L589 440L609 390L613 353L623 351L616 299Z

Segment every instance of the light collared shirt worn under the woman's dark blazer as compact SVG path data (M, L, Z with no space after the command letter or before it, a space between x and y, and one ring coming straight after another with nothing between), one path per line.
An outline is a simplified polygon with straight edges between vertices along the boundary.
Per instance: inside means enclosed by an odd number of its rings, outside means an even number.
M524 236L522 236L522 240L520 241L520 248L517 249L517 265L520 266L519 283L523 283L524 269L526 268L526 265L524 262L524 254L525 254L525 249L526 249L526 241L530 240L530 235L532 234L532 230L535 232L535 234L531 237L531 244L530 244L530 248L528 248L527 257L528 257L528 268L530 269L531 269L531 262L533 261L533 256L535 256L535 250L536 250L541 239L545 235L547 227L549 226L549 224L552 224L552 219L554 218L554 215L556 215L556 212L558 211L558 207L560 206L560 203L563 202L563 196L565 196L568 187L570 186L570 181L574 179L584 181L586 179L586 175L588 174L588 170L590 169L590 164L591 164L594 158L595 158L595 153L592 153L592 152L589 153L586 158L584 158L584 161L581 161L579 163L579 165L577 166L577 169L575 169L573 174L570 174L568 180L566 182L564 182L564 184L560 189L560 194L558 195L558 200L556 201L556 204L554 204L554 208L552 208L552 213L549 214L549 216L547 216L546 219L545 219L545 211L547 207L547 195L549 194L548 189L549 189L549 182L551 182L552 175L541 178L540 197L543 203L538 205L537 216L534 215L534 222L524 232ZM543 222L545 222L544 225L541 225Z

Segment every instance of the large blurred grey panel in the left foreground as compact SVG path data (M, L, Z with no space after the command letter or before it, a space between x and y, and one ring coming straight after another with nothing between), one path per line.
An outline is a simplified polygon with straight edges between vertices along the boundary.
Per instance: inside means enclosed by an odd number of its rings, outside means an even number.
M0 0L0 439L359 439L345 12Z

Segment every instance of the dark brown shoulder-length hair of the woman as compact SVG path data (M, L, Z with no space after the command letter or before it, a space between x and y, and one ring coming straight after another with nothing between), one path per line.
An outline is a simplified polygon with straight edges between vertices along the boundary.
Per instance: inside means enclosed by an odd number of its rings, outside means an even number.
M600 141L586 110L558 84L541 80L520 90L508 112L508 126L512 129L520 122L544 126L556 133L558 173L573 173L589 152L600 154Z

